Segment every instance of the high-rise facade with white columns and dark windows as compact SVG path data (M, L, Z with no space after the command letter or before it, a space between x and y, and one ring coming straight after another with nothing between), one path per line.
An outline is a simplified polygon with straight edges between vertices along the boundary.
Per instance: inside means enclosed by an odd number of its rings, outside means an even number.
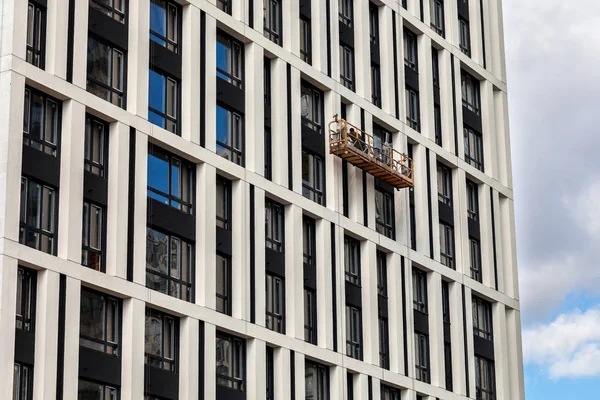
M0 398L524 399L501 0L0 4Z

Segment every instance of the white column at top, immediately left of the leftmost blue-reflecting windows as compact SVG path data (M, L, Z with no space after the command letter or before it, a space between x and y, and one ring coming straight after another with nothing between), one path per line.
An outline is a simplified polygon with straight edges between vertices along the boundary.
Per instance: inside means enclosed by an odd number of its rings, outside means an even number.
M127 111L148 118L150 0L131 1L128 11Z

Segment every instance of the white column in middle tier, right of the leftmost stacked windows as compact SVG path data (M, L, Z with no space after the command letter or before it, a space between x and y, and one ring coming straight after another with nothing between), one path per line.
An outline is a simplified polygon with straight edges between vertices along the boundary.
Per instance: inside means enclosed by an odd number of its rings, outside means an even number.
M63 101L60 148L58 256L81 263L85 106Z

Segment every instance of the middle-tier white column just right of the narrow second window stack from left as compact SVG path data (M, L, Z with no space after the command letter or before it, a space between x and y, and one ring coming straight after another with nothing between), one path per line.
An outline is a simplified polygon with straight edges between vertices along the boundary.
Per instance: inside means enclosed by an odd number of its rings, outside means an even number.
M129 215L129 127L113 122L108 140L106 274L127 278Z

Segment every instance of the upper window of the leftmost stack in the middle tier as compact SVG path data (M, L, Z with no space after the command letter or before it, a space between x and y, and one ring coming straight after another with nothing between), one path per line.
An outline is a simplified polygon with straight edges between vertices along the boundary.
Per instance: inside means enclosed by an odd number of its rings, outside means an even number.
M60 105L46 94L25 88L23 144L58 157Z

